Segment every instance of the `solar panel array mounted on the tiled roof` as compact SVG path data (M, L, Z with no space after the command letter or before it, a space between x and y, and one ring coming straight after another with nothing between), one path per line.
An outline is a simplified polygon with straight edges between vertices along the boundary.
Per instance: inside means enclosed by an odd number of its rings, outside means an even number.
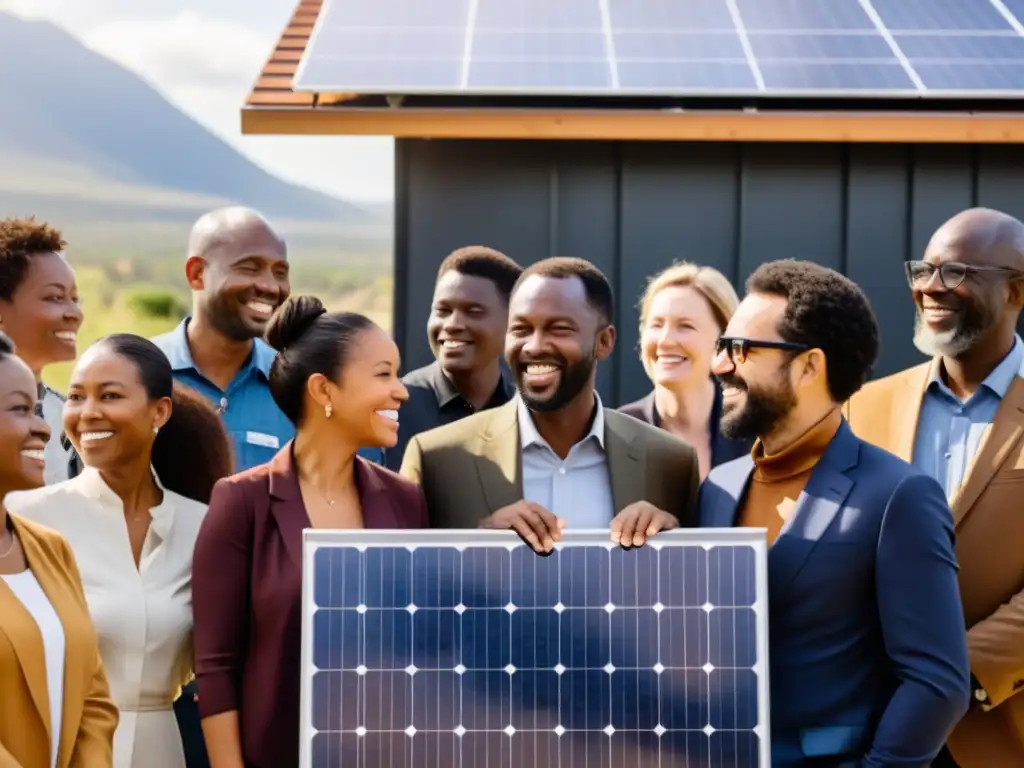
M326 0L296 90L1024 93L1024 0Z

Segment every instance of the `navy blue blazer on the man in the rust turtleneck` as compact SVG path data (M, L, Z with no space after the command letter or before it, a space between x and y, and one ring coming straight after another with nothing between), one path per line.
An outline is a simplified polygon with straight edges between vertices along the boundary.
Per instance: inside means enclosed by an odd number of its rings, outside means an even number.
M701 527L753 468L712 470ZM844 421L768 551L773 768L931 763L970 696L956 572L942 488Z

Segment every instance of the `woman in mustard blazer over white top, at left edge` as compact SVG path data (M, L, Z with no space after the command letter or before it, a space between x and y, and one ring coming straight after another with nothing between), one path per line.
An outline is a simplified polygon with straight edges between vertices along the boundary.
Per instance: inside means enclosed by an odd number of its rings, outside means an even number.
M35 406L33 373L0 334L0 764L110 768L118 711L75 555L6 511L43 483L49 429Z

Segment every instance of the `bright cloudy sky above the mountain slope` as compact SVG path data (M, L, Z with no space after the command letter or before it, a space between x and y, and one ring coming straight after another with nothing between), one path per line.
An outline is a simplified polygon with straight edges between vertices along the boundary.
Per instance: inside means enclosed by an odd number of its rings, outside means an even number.
M297 0L0 0L132 70L247 157L354 201L394 195L387 136L243 136L240 110Z

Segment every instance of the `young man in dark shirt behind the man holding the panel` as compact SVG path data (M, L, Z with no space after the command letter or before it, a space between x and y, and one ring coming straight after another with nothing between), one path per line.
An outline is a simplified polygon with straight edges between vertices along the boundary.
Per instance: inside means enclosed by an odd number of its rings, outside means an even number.
M409 401L398 442L385 452L390 469L401 466L414 435L511 399L515 385L502 356L509 294L521 273L515 261L484 246L460 248L441 262L427 319L435 359L401 380Z

